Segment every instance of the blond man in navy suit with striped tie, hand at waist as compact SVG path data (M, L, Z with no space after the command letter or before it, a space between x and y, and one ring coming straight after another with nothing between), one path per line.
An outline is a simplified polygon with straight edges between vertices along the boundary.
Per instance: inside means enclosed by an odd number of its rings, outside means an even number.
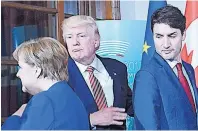
M62 30L71 56L69 85L87 109L91 129L126 129L126 116L133 115L126 66L96 55L100 34L92 17L65 19Z

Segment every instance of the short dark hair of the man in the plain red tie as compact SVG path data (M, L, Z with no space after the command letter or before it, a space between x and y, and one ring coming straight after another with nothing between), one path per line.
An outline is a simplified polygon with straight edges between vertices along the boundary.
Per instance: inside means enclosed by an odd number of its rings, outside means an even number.
M151 30L153 32L154 24L164 23L171 28L180 29L183 34L186 29L186 17L181 11L172 5L167 5L156 10L151 17Z

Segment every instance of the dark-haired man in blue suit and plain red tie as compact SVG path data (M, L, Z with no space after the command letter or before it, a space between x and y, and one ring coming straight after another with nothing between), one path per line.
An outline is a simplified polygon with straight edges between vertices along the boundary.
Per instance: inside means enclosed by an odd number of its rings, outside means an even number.
M185 25L185 16L171 5L152 15L151 30L156 52L135 77L136 129L198 129L198 89L194 70L180 56Z

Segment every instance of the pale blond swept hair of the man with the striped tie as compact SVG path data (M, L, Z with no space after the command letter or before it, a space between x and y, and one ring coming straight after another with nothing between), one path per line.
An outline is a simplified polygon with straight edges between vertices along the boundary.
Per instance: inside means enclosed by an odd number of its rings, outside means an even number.
M94 34L97 35L100 38L100 34L99 34L99 31L98 31L97 24L91 16L76 15L76 16L71 16L71 17L65 19L62 22L62 30L63 30L64 41L66 41L65 34L67 32L67 29L68 28L73 28L73 27L78 27L78 26L91 27Z

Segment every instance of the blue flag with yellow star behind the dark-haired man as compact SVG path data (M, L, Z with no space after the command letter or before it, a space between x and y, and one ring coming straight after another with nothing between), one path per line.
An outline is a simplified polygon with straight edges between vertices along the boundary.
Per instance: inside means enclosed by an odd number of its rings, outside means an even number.
M166 5L167 3L165 0L164 1L149 1L141 65L146 64L155 52L153 33L151 30L151 16L157 9L164 7Z

